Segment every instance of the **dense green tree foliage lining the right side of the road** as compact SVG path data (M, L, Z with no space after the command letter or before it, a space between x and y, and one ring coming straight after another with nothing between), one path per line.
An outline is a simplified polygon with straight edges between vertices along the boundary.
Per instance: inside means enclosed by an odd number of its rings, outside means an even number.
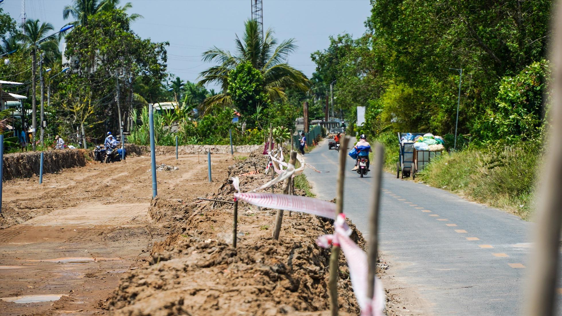
M373 136L452 134L459 72L450 68L462 68L459 134L477 144L540 137L551 1L372 3L363 36L335 36L312 54L316 86L337 80L349 121L366 106Z

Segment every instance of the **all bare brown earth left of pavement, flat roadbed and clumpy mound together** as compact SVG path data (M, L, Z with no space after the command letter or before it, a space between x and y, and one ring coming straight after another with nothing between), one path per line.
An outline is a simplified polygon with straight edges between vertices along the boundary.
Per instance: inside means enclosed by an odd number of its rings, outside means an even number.
M211 183L205 155L157 163L179 170L158 172L153 201L148 157L67 169L41 186L37 177L5 182L0 314L329 314L329 250L314 244L329 223L285 213L275 241L275 211L240 203L234 249L232 205L194 199L232 200L226 179L233 175L241 175L242 190L261 185L265 162L213 155ZM360 233L353 237L364 246ZM358 315L341 259L340 314ZM387 266L380 267L387 282ZM402 287L384 285L392 288L389 315L415 314Z

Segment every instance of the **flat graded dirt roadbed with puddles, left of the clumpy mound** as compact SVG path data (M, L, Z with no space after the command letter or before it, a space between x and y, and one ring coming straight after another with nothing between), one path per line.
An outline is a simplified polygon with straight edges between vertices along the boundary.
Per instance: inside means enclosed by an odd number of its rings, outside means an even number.
M230 155L213 155L224 179ZM206 156L157 157L179 167L158 172L158 195L191 201L215 191ZM149 157L72 168L4 183L0 218L0 313L93 315L121 273L143 265L166 227L147 216L152 198Z

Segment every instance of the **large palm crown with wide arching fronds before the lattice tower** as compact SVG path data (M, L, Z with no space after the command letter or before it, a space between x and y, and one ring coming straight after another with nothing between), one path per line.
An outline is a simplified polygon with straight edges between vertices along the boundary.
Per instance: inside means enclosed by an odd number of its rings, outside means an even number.
M236 36L235 43L237 54L213 47L203 53L203 61L215 61L219 65L210 67L201 72L200 85L217 83L223 93L212 95L205 99L207 109L216 105L230 105L232 98L228 91L228 76L240 63L250 62L254 68L259 70L264 77L264 90L270 100L286 99L285 89L293 88L307 91L309 80L299 70L289 66L287 57L297 49L294 39L283 40L278 44L273 37L273 31L268 29L265 38L262 39L257 22L248 20L245 22L246 30L241 39ZM276 47L277 45L277 47Z

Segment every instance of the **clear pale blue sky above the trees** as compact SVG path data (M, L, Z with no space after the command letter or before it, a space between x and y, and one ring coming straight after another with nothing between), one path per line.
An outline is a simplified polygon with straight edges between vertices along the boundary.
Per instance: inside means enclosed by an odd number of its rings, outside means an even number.
M121 0L121 5L126 2ZM153 42L170 42L168 71L192 82L213 65L203 62L201 54L213 46L234 52L235 35L242 36L244 21L251 17L251 0L129 2L133 8L128 12L144 17L132 22L133 31ZM28 19L48 21L60 29L67 22L62 19L62 8L67 4L71 1L26 0L25 12ZM0 6L21 21L22 0L4 0ZM273 29L279 40L296 40L298 49L289 56L289 63L308 77L315 71L310 54L327 48L330 35L361 36L370 15L369 0L263 0L262 6L264 28Z

